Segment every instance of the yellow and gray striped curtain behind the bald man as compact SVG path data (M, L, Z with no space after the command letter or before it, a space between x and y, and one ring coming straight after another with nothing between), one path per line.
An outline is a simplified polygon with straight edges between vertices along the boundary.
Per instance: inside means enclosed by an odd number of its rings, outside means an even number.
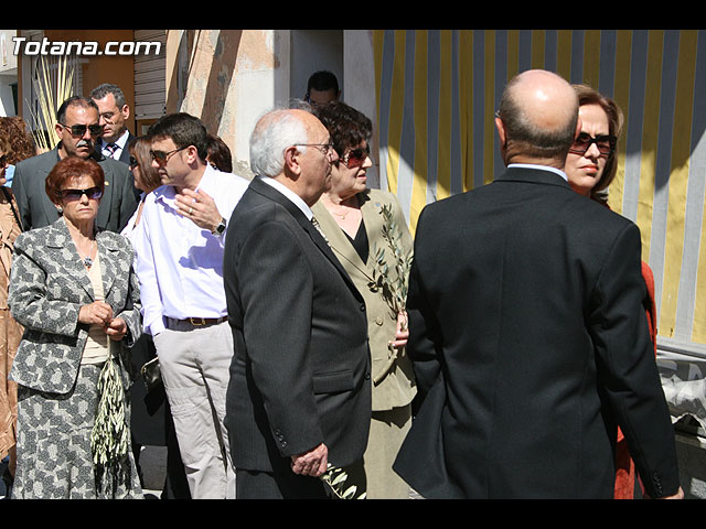
M376 30L373 41L381 186L413 233L426 204L502 171L493 115L518 72L612 97L625 127L610 206L642 231L662 344L706 354L706 31Z

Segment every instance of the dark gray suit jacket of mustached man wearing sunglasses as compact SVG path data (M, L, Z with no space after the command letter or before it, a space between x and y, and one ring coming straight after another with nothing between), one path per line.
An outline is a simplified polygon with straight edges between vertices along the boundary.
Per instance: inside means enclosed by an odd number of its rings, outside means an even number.
M49 226L58 218L56 206L44 191L46 175L60 161L57 149L23 160L15 166L12 192L25 230ZM138 204L132 173L125 163L107 159L97 151L92 158L105 174L96 224L100 229L120 233Z

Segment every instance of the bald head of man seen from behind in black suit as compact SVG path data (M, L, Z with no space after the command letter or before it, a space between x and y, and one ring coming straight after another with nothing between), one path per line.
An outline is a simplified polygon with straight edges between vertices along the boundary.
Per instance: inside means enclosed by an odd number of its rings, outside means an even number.
M505 163L563 168L576 137L578 97L565 79L531 69L505 88L496 119Z

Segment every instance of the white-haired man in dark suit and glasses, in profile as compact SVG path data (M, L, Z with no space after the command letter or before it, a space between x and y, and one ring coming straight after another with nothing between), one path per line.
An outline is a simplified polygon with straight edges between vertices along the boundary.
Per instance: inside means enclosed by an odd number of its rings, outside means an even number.
M231 217L238 229L223 266L235 348L225 422L240 499L325 498L329 463L362 464L365 301L311 212L335 160L328 130L302 110L265 115L250 137L257 176Z

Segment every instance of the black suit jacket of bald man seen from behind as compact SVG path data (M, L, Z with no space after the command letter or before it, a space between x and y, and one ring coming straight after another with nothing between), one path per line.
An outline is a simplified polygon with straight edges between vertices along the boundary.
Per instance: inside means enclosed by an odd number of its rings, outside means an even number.
M426 207L407 347L422 400L395 471L428 498L610 498L620 424L646 492L676 493L640 252L633 223L548 171Z

